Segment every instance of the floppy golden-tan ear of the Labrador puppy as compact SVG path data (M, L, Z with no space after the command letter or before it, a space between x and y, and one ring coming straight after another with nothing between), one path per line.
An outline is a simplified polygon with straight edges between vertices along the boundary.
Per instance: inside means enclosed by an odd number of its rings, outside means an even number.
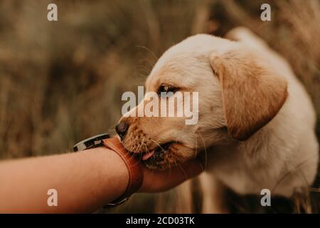
M277 115L287 98L287 81L245 51L213 54L210 64L221 82L229 134L247 140Z

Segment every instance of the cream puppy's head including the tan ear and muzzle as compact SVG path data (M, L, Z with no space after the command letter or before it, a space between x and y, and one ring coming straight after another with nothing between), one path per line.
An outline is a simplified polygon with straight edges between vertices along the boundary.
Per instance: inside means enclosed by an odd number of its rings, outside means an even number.
M153 96L144 96L116 130L124 147L141 153L146 165L166 169L196 157L204 147L250 138L278 113L287 98L287 83L240 44L197 35L159 58L144 92ZM160 115L164 107L169 110L170 101L174 116L139 115L146 108ZM186 115L188 109L192 117ZM196 121L186 124L190 118Z

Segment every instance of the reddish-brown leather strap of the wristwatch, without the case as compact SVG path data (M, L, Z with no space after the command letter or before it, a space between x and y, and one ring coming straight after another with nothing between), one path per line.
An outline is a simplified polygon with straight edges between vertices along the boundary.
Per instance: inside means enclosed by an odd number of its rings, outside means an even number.
M137 156L128 152L118 138L107 138L102 140L102 143L105 145L105 147L114 150L120 155L124 163L127 165L129 171L129 182L124 194L111 202L111 204L118 204L139 190L142 185L144 173Z

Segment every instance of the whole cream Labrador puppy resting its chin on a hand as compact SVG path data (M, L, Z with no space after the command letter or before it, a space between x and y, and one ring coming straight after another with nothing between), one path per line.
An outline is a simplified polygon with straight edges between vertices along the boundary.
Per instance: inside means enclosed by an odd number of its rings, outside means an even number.
M203 212L225 212L225 187L239 195L268 189L290 197L311 185L319 162L314 108L287 61L247 28L228 38L186 38L159 58L146 80L146 92L160 100L198 92L196 124L186 125L186 117L124 115L116 128L124 147L151 168L205 155ZM127 114L151 102L144 98Z

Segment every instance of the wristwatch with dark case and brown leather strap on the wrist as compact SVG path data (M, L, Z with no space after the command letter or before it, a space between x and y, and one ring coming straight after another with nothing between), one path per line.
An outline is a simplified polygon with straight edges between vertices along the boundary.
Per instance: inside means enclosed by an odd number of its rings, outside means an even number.
M91 138L87 138L86 140L78 142L76 145L74 145L73 151L78 152L82 150L92 149L95 147L106 147L110 150L113 150L114 152L117 152L117 154L122 158L122 160L126 164L127 169L129 171L129 181L127 188L124 191L124 194L107 204L105 208L114 207L124 202L127 202L129 197L134 192L137 192L137 190L139 190L144 179L142 167L140 165L138 157L133 153L128 152L122 145L122 142L120 142L117 137L110 138L110 135L107 133L95 135Z

